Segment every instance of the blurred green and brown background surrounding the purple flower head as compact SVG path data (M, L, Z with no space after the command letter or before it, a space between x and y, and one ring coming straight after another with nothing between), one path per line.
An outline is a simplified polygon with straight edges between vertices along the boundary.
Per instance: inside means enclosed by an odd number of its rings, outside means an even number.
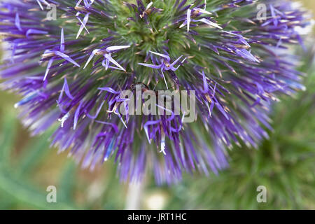
M315 11L315 1L304 5ZM19 97L0 92L0 209L315 209L315 67L302 55L307 91L274 107L270 139L233 148L218 176L186 175L174 186L155 186L151 175L141 186L120 183L113 162L80 169L49 148L51 133L30 137L13 107ZM57 203L46 201L48 186ZM256 200L258 186L266 203Z

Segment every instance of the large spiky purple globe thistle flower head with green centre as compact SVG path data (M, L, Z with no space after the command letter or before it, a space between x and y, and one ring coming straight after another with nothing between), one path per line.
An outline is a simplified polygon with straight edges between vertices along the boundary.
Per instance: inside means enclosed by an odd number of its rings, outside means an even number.
M265 6L258 17L257 3ZM57 20L46 8L56 6ZM272 102L303 90L298 29L307 13L291 1L4 1L1 87L32 134L55 128L52 145L93 169L112 158L123 181L153 170L157 183L183 172L218 173L227 148L267 138ZM262 7L263 8L263 7ZM197 118L123 115L120 93L195 92ZM161 108L160 108L161 109Z

